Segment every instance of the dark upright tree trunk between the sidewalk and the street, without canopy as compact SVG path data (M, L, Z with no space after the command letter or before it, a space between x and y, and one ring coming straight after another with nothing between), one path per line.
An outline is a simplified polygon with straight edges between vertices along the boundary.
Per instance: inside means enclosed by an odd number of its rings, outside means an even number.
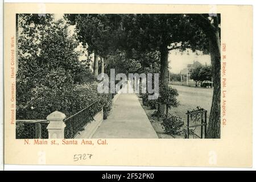
M159 86L160 86L160 96L162 96L163 86L168 86L168 48L167 45L164 45L160 48L160 77L159 77ZM164 113L164 104L158 108L158 113Z

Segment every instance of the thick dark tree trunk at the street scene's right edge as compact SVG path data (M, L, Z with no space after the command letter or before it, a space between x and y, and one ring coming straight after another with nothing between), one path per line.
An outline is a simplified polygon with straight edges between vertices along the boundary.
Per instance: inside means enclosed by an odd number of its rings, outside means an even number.
M214 37L210 39L210 58L212 60L213 72L213 98L210 109L207 138L220 138L220 121L221 121L221 45L220 35L216 31Z

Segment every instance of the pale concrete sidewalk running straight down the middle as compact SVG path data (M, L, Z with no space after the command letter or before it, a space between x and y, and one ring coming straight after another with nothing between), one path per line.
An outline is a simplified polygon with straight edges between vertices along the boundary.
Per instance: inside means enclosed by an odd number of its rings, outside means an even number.
M119 94L92 138L158 138L136 94Z

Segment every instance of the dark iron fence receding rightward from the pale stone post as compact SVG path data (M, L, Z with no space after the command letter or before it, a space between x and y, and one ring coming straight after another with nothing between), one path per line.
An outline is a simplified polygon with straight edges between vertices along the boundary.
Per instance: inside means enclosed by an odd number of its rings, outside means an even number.
M80 110L76 114L73 114L66 119L64 123L66 125L64 130L65 138L75 138L80 131L84 130L84 127L90 122L93 121L94 115L96 115L101 110L99 103L93 102L89 106Z

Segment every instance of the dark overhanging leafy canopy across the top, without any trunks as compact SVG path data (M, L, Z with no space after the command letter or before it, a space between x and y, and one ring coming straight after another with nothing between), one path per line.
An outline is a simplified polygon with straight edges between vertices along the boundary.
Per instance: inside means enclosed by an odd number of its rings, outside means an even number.
M66 14L76 24L79 39L91 51L109 55L111 51L156 51L160 47L193 47L203 49L208 44L203 32L184 14Z

